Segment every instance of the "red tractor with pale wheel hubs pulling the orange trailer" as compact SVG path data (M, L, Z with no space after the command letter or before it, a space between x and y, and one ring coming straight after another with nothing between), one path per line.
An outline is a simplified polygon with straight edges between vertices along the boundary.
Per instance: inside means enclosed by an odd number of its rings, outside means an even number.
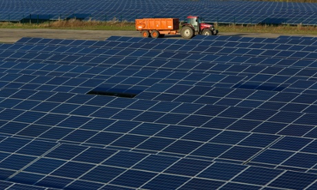
M181 28L181 36L184 39L192 39L193 36L216 35L218 30L214 29L214 25L204 23L200 17L188 16Z

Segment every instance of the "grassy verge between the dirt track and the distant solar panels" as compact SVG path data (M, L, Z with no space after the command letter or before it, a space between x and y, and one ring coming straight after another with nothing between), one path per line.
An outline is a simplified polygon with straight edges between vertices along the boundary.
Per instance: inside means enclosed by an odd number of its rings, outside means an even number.
M130 30L134 31L134 23L127 21L51 21L45 23L0 23L0 28L28 29L72 29L72 30ZM317 26L304 25L215 25L219 32L243 33L276 33L276 34L311 34L317 35Z

